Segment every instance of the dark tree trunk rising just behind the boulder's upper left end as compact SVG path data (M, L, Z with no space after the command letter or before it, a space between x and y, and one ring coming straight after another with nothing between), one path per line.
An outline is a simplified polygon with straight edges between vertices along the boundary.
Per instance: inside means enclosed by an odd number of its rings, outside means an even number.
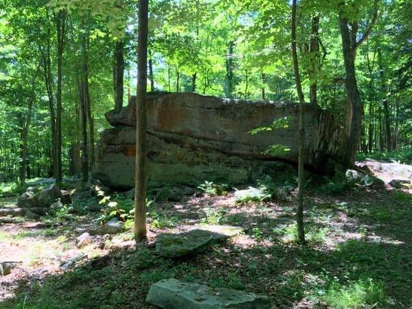
M124 42L115 44L115 63L113 65L113 88L115 94L115 110L120 111L123 106L124 93Z

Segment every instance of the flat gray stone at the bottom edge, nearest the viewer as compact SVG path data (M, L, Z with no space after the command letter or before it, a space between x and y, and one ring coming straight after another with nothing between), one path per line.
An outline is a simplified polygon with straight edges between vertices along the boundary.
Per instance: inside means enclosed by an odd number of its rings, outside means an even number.
M149 304L168 309L266 309L269 298L229 288L210 288L187 284L177 279L164 279L150 286L146 297Z

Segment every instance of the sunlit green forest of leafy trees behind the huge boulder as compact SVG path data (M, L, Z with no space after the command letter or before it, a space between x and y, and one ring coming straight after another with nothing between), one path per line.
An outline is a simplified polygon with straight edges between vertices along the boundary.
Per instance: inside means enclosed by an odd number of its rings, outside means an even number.
M411 1L299 1L304 95L350 133L339 16L347 20L363 154L411 144ZM148 91L297 100L288 1L150 1ZM104 113L136 90L137 1L10 1L0 8L0 181L80 176ZM309 102L308 102L309 104Z

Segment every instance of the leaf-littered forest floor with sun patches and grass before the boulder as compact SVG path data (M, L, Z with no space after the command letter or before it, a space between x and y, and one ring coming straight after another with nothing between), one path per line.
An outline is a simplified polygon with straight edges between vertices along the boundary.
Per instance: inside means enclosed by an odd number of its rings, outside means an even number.
M150 284L170 277L268 295L272 308L412 308L411 192L330 185L305 194L304 245L290 185L268 202L236 203L232 191L153 203L149 242L199 223L244 228L183 260L136 246L132 231L78 249L74 231L98 213L0 224L0 262L17 262L0 277L0 308L155 308L144 301ZM2 198L0 208L15 201Z

